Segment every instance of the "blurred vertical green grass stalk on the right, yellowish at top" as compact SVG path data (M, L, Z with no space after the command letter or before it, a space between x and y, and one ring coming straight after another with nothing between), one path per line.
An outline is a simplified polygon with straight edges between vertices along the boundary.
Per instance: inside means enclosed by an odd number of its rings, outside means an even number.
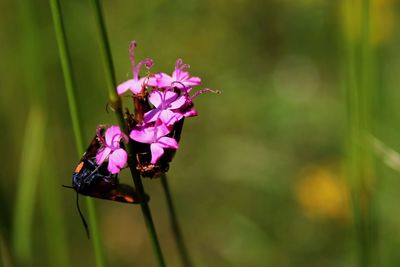
M369 143L372 131L371 95L374 75L370 44L369 1L344 1L345 19L352 32L345 39L347 92L347 175L352 188L352 202L358 264L373 265L374 203L372 182L374 164ZM350 32L350 31L349 31Z

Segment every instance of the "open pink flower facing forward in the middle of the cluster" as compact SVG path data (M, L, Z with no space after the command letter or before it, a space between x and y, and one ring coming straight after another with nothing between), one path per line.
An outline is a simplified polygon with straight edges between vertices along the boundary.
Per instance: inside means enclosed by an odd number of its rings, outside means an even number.
M170 126L184 117L179 108L183 107L188 99L173 91L154 90L149 96L149 101L154 109L144 114L144 121L154 122L159 119Z

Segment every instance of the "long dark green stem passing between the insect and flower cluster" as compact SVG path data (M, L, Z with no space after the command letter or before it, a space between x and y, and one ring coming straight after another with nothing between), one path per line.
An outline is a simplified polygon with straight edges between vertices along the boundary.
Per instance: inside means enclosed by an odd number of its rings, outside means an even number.
M110 45L108 42L108 37L107 37L107 31L103 19L103 12L101 8L101 4L99 0L92 0L92 4L95 10L95 19L96 19L96 24L98 28L98 36L99 36L99 45L100 45L100 53L102 55L103 59L103 64L104 64L104 69L106 72L106 81L107 81L107 89L108 89L108 95L111 101L111 105L115 110L115 113L117 115L119 124L123 131L126 134L129 134L127 132L127 125L124 120L124 115L122 112L122 104L119 96L117 95L116 92L116 79L115 79L115 74L114 74L114 67L112 63L112 56L111 56L111 50L110 50ZM164 262L164 257L162 255L160 243L158 241L157 237L157 232L154 226L153 218L151 215L150 207L146 201L146 195L144 192L142 180L140 177L140 174L136 170L136 158L134 156L134 148L132 147L131 143L127 145L127 152L128 152L128 165L131 171L133 183L135 184L137 193L139 195L139 200L140 200L140 207L142 209L142 214L144 217L144 221L146 224L147 232L149 234L150 240L151 240L151 245L153 247L154 255L156 256L157 259L157 264L160 267L165 266Z

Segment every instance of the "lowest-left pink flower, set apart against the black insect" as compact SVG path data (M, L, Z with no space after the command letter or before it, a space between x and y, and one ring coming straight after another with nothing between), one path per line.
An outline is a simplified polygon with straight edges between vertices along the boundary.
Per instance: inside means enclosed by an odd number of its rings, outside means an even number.
M101 135L99 136L101 138ZM128 154L120 147L122 138L128 140L118 126L111 126L105 133L105 140L101 138L104 147L96 155L96 162L99 165L108 159L108 170L112 174L119 173L128 161Z

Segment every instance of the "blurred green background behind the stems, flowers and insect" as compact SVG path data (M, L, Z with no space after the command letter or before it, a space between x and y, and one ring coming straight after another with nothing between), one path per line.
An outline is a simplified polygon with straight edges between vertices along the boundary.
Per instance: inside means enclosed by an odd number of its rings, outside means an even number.
M61 2L86 146L98 124L117 122L105 110L93 9ZM222 91L196 99L168 173L194 266L357 266L344 170L345 46L360 16L345 20L350 2L362 1L103 1L118 82L131 77L135 39L153 72L182 58ZM371 134L387 146L373 153L375 266L400 266L399 4L370 0ZM18 266L19 253L27 266L94 266L75 194L61 187L79 158L48 1L0 1L0 58L0 266ZM160 182L144 185L167 264L180 266ZM138 206L96 208L109 266L155 266Z

